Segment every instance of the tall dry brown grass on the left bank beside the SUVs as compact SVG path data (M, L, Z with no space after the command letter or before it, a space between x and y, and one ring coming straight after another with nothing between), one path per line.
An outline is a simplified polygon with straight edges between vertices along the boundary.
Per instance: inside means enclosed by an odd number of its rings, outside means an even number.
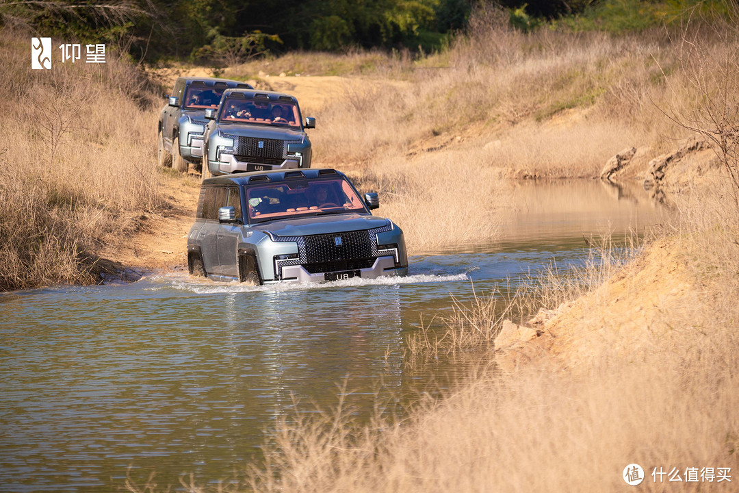
M100 245L163 205L152 88L114 53L32 71L27 40L0 31L0 289L93 282Z

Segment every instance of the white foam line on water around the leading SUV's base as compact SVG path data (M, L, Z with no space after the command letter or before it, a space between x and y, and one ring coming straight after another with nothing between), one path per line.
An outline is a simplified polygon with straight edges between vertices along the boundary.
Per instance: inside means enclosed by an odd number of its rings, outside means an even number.
M216 282L205 278L191 277L188 274L168 274L155 275L142 280L151 282L152 285L146 290L163 290L177 289L191 291L197 294L218 294L218 293L248 293L261 291L294 291L294 290L310 290L310 289L327 289L327 288L343 288L354 286L392 286L406 284L421 284L426 282L455 282L466 281L469 279L467 273L454 275L436 275L436 274L415 274L412 276L401 277L378 277L375 279L366 279L361 277L353 277L351 279L342 279L341 281L331 282L278 282L263 286L248 285L243 282Z

